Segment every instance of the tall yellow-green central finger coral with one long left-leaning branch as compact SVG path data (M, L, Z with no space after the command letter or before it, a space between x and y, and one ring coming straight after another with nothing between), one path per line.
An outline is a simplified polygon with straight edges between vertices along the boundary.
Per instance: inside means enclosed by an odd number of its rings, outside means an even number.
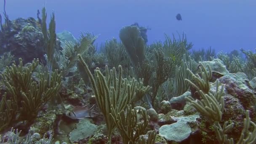
M87 64L81 55L78 55L80 63L84 67L84 71L88 74L92 84L93 92L96 97L97 105L105 117L107 124L109 141L111 141L112 132L115 128L115 122L109 115L113 111L121 112L136 94L137 81L135 78L131 80L123 79L122 67L118 67L118 73L115 67L111 70L106 66L106 76L104 76L99 68L95 69L95 77L90 72ZM146 89L146 87L141 87ZM111 110L112 109L112 110Z

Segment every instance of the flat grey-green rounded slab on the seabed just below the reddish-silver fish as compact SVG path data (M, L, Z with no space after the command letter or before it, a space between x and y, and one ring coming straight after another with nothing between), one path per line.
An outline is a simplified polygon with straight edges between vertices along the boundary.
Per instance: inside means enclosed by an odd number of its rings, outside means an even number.
M71 142L86 139L93 135L96 129L97 125L94 125L89 119L85 118L80 120L80 122L77 123L77 128L69 133L69 139Z

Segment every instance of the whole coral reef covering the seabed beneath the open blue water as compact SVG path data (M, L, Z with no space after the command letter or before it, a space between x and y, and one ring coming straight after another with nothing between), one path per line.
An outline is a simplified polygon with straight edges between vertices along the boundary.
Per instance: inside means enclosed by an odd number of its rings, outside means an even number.
M45 7L4 19L1 144L256 144L252 51L194 50L184 33L148 45L138 23L98 49L56 34Z

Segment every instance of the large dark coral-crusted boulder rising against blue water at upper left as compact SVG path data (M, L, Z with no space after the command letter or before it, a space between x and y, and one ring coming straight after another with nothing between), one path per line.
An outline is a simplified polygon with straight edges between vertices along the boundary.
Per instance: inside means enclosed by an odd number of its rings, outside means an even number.
M18 18L11 21L9 29L0 33L0 55L11 52L14 60L22 57L24 64L34 58L43 59L44 51L43 33L37 21Z

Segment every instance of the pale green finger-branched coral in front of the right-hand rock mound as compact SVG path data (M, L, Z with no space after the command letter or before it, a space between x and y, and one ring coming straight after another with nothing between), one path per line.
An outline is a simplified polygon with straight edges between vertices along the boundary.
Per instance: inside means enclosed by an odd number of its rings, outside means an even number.
M215 121L221 121L222 112L224 110L224 99L223 99L223 86L221 86L221 89L219 90L219 81L216 81L216 92L210 93L210 84L209 80L211 79L211 68L208 66L209 73L206 71L205 66L203 63L200 64L200 72L202 77L199 75L193 74L189 69L187 69L191 75L192 78L195 80L194 83L188 79L185 79L190 85L192 85L199 95L201 96L201 100L195 100L191 96L186 97L186 101L189 101L192 103L192 106L194 106L198 112L200 112L202 115L205 115L208 122L213 124Z

